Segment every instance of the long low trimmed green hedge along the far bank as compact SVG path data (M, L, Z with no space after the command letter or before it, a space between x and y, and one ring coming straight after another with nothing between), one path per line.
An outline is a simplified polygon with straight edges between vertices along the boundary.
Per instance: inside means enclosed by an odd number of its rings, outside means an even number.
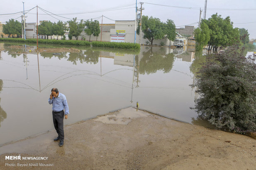
M37 43L37 39L22 39L22 38L0 38L0 41L9 42L22 42L22 43ZM110 47L110 48L123 48L129 50L139 50L140 45L134 43L114 43L114 42L100 42L100 41L81 41L81 40L44 40L39 39L40 44L61 44L61 45L80 45L80 46L90 46L93 47Z

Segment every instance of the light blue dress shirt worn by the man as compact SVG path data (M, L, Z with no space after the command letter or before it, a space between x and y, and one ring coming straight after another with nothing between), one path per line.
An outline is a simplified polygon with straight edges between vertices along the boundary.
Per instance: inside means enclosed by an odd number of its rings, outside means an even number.
M65 109L65 115L69 114L68 102L66 96L59 92L58 97L53 97L48 99L49 104L52 104L53 111L62 111Z

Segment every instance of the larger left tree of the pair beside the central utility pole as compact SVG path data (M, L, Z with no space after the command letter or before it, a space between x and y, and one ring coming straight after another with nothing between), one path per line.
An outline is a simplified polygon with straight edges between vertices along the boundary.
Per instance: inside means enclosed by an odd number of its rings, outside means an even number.
M148 39L151 45L153 45L154 39L162 39L167 34L166 28L166 24L161 22L159 18L149 18L144 15L141 18L141 31L144 33L143 38ZM137 27L137 34L139 35L139 26Z

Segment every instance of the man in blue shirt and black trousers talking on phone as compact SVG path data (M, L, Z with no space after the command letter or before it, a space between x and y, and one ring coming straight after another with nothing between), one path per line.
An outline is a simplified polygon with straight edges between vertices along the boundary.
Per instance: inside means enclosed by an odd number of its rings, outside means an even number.
M49 104L52 104L52 118L54 121L54 127L58 133L58 137L54 141L60 140L59 146L64 144L64 129L63 118L68 118L69 109L66 96L59 92L57 88L51 89L51 95L48 99ZM65 110L65 112L63 111Z

